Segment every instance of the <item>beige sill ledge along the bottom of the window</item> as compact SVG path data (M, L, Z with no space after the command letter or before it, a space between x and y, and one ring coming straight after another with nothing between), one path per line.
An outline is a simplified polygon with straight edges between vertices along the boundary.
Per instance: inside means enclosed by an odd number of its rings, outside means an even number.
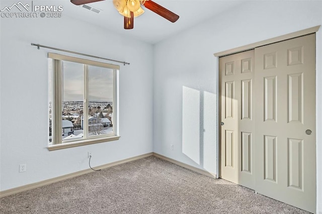
M104 143L108 141L117 141L120 139L120 136L112 136L112 137L106 137L106 138L99 138L99 139L91 139L91 140L82 140L82 141L76 141L72 143L62 143L62 144L56 144L52 146L48 146L49 151L59 150L59 149L67 149L77 146L85 146L90 144L96 144L96 143Z

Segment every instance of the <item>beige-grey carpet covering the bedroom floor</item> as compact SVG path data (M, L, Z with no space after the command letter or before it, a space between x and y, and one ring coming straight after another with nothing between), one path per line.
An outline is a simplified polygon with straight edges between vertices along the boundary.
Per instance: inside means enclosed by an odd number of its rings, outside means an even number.
M1 213L308 213L154 156L0 198Z

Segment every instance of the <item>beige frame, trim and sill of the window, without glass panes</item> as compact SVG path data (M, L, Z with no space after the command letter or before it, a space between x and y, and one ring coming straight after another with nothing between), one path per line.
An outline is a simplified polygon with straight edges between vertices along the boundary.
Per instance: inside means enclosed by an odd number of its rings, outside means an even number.
M71 56L65 56L55 53L48 53L48 58L50 59L49 66L51 71L52 78L52 142L48 144L48 150L57 150L64 149L76 146L84 146L95 143L103 143L108 141L118 140L119 136L119 65L113 65L88 59L76 58ZM61 112L62 112L62 61L69 61L74 63L79 63L84 65L84 112L83 112L83 121L84 127L89 125L89 121L86 120L88 117L88 73L89 73L89 65L104 67L113 69L113 133L106 135L98 135L98 136L88 136L88 133L84 130L84 138L82 140L67 140L62 141L62 123L61 123ZM56 131L58 130L58 131Z

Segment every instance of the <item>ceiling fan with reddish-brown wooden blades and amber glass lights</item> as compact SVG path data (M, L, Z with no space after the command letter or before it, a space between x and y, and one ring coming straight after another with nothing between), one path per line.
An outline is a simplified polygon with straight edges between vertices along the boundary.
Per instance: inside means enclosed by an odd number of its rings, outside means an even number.
M104 0L70 0L74 5L84 5ZM152 2L151 0L113 0L113 5L117 11L124 16L124 29L133 29L134 17L138 17L144 13L141 5L162 16L163 18L174 23L179 16L168 9Z

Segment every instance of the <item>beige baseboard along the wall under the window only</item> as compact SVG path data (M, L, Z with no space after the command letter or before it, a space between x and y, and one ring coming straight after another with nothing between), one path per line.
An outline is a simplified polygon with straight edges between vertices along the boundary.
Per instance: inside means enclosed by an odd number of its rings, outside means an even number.
M109 168L109 167L112 167L112 166L117 166L117 165L120 165L120 164L123 164L123 163L135 161L135 160L145 158L145 157L149 157L149 156L152 156L152 155L153 155L153 153L150 152L150 153L135 156L135 157L132 157L132 158L127 158L127 159L124 159L124 160L115 161L115 162L104 164L104 165L101 165L101 166L96 166L95 169L106 169L106 168ZM43 180L43 181L39 181L39 182L36 182L36 183L31 183L31 184L27 184L27 185L23 185L23 186L18 186L18 187L12 188L12 189L7 189L7 190L4 190L4 191L0 191L0 197L5 197L5 196L8 196L8 195L16 194L18 192L23 192L23 191L26 191L26 190L38 188L38 187L45 186L45 185L55 183L55 182L58 182L58 181L67 180L67 179L77 177L79 175L84 175L84 174L87 174L87 173L90 173L90 172L93 172L93 170L92 169L85 169L85 170L70 173L70 174L67 174L67 175L62 175L62 176L59 176L59 177L50 178L48 180Z

